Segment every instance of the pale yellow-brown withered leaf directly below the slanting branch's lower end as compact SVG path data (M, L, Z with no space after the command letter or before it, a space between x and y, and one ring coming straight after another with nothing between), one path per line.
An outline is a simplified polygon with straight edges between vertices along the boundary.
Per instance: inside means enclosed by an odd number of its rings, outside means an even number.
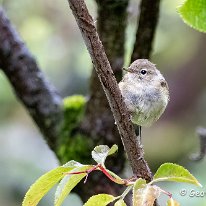
M146 184L146 180L138 179L133 188L133 206L153 206L160 196L160 188Z

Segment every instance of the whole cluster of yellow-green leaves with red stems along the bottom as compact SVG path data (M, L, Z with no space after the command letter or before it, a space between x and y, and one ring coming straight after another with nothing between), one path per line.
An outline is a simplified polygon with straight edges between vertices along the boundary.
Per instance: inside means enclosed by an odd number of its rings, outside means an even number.
M114 197L111 194L97 194L89 198L84 206L106 206L111 202L115 202L115 206L125 206L124 198L133 190L133 205L152 206L154 201L162 194L169 196L168 206L178 206L179 203L172 199L169 192L164 191L159 186L154 185L160 181L186 182L201 186L197 179L190 174L188 170L180 165L165 163L159 167L154 175L154 179L147 183L146 180L138 179L122 179L105 167L107 156L117 151L117 145L109 148L107 145L100 145L92 151L92 158L97 165L82 165L76 161L69 161L67 164L57 167L54 170L41 176L28 190L25 195L22 206L36 206L41 198L60 180L55 193L55 206L60 206L71 190L84 178L85 183L89 173L94 170L102 171L111 181L116 184L125 185L126 189L123 194Z

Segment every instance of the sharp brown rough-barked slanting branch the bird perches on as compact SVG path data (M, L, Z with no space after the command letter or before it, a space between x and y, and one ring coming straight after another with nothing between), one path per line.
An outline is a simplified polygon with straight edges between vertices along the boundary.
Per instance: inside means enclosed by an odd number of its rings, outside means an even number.
M103 45L97 34L93 19L83 0L68 0L68 2L85 40L102 87L106 93L133 173L137 177L151 179L152 175L150 169L142 157L143 149L137 141L129 113L121 96Z

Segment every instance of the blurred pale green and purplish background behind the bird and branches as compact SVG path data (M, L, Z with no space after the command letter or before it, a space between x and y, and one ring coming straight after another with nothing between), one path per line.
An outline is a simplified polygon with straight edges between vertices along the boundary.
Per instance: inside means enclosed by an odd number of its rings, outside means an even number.
M87 0L96 17L96 5ZM128 8L125 65L129 64L136 31L138 2ZM48 79L63 97L88 94L91 60L70 12L67 1L0 0ZM197 126L206 126L206 35L186 26L176 12L181 1L162 1L152 61L164 74L171 88L168 110L151 128L143 129L146 159L153 171L163 162L177 162L189 169L203 186L206 162L191 162L188 156L198 151ZM21 205L28 187L58 161L42 135L18 102L5 75L0 71L0 205ZM189 197L186 184L163 184L182 205L206 206L204 197ZM181 196L181 189L188 191ZM53 191L40 205L52 205ZM160 201L164 200L160 198ZM71 195L64 205L82 205ZM162 203L162 205L164 205Z

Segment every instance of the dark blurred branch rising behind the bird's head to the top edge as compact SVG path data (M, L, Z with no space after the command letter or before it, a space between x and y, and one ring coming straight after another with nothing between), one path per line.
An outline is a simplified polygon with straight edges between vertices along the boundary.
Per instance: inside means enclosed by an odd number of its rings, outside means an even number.
M142 0L139 25L131 62L136 59L149 59L159 17L160 0Z

